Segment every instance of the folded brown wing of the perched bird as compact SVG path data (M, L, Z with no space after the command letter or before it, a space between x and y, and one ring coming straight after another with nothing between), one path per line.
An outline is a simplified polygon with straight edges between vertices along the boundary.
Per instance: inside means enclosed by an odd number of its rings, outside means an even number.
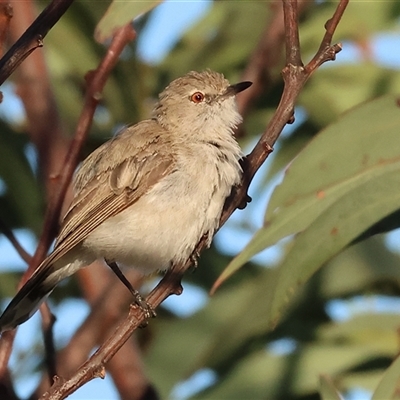
M175 170L168 133L155 121L132 127L95 150L75 178L76 195L64 217L46 269ZM160 145L162 142L163 145Z

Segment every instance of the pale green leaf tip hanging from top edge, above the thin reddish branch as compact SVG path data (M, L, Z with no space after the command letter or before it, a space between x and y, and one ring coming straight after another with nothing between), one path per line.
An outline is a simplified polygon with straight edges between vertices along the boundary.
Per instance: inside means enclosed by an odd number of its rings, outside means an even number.
M132 21L137 16L144 14L159 3L162 0L152 1L116 1L114 0L108 10L105 12L100 22L97 24L94 37L95 39L103 43L114 34L114 32Z

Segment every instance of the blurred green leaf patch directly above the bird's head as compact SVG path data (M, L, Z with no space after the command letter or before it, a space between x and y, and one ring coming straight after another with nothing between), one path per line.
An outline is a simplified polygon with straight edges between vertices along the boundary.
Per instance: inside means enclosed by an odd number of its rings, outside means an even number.
M252 53L270 13L271 9L258 1L246 2L245 6L235 1L213 2L210 12L177 42L162 68L173 71L174 76L193 68L212 68L234 82L239 79L243 60Z

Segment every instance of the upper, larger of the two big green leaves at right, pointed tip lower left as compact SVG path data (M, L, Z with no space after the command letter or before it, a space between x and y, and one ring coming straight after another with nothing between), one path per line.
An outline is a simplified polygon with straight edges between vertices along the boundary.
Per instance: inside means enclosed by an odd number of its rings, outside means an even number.
M349 213L342 215L344 209L336 209L335 213L341 215L342 222L354 212L363 218L364 214L359 215L359 207L369 205L362 199L353 202L351 198L346 200L349 195L355 198L364 194L370 196L376 214L368 216L368 223L358 220L359 226L349 227L352 232L348 233L346 239L341 232L340 246L345 246L347 240L356 238L353 235L360 235L363 230L399 208L400 202L397 206L393 201L388 204L382 199L383 194L373 187L375 184L381 186L381 181L393 183L396 180L400 165L399 132L400 109L397 98L388 95L352 110L317 135L293 161L282 184L275 189L264 227L256 232L246 248L228 265L216 285L255 254L309 227L338 202L341 202L340 207L347 207ZM371 193L361 193L360 190ZM389 187L385 190L390 193L395 191ZM348 204L349 201L352 204ZM369 210L372 211L371 207ZM335 228L333 221L326 222L331 229ZM330 240L331 236L326 239ZM332 256L340 248L331 250Z

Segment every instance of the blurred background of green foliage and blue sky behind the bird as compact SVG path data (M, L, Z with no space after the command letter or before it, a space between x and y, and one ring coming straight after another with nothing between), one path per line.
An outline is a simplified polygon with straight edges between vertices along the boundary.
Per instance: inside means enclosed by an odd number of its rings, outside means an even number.
M39 11L46 4L34 5ZM2 86L0 222L12 229L30 254L51 196L49 177L62 168L66 144L82 109L84 76L105 53L93 32L108 5L76 1L50 31L43 50L36 51L44 56L44 66L36 67L49 80L56 122L39 118L35 123L31 107L40 103L41 94L36 92L37 97L26 101L23 91L29 73L22 68ZM304 62L318 49L324 24L336 5L323 0L299 3ZM148 118L157 94L174 78L190 70L211 68L231 83L238 82L244 74L251 76L261 47L268 52L262 54L264 64L257 67L259 95L250 103L239 104L244 115L239 141L244 152L250 152L283 89L280 7L280 2L269 1L167 0L137 18L137 39L126 48L106 85L82 158L124 125ZM186 274L183 294L165 301L157 318L121 350L120 357L125 354L126 358L132 349L140 349L135 368L160 398L319 399L319 375L326 374L346 400L369 399L397 355L400 246L396 230L348 247L326 263L292 299L274 330L267 323L265 291L271 273L285 257L290 238L252 258L213 297L208 292L232 257L262 227L271 193L307 143L353 107L387 93L399 93L399 16L397 2L350 2L334 37L334 42L343 44L343 51L304 87L295 123L285 128L273 155L251 185L253 201L234 213L212 247L202 254L198 268ZM268 40L272 43L266 45ZM27 68L28 72L35 70L35 66ZM38 124L44 125L45 135L37 130ZM5 307L26 265L4 235L0 235L0 254L0 297ZM119 300L112 297L125 289L105 267L101 272L102 267L96 268L89 267L91 272L83 273L87 275L69 279L49 299L57 317L54 336L60 350L73 346L71 338L77 329L93 315L91 310L100 308L96 303L100 300L89 287L94 277L110 279L99 298L109 308L120 310L118 318L128 310L129 293ZM146 279L142 291L149 291L156 281L157 277ZM100 309L107 313L107 307ZM111 329L111 333L118 318L110 325L104 316L103 321L95 320L97 325L92 329ZM10 372L21 398L29 397L43 379L40 331L39 315L18 329ZM101 339L97 341L101 343ZM97 345L94 340L89 352ZM67 347L68 354L72 348ZM79 352L79 348L73 349ZM66 371L79 366L61 354ZM118 368L111 368L104 380L90 382L69 398L141 398L128 397L129 382L121 382L134 380L128 373L131 366L124 360L116 365L125 365L125 377L116 372Z

